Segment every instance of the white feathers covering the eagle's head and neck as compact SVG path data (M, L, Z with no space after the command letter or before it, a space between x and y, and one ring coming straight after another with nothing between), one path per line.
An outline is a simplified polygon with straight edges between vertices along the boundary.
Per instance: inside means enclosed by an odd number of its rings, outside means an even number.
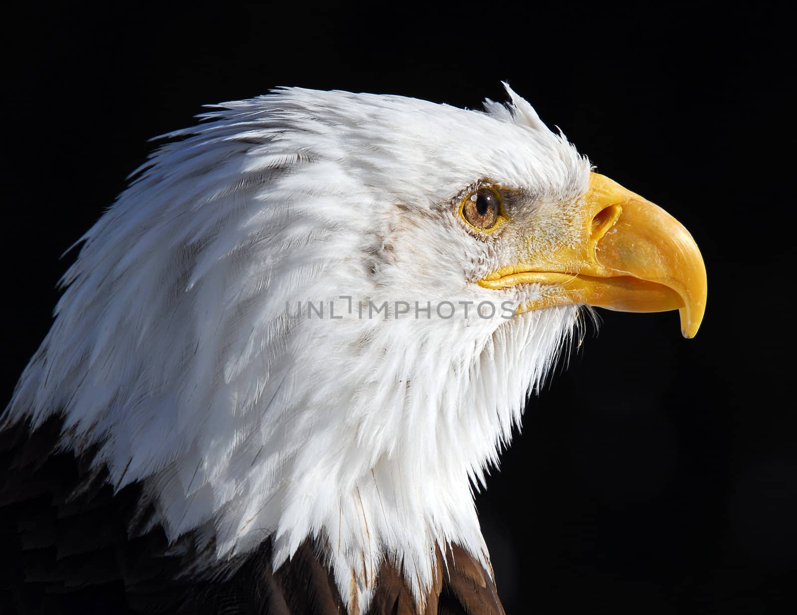
M435 543L489 566L472 485L577 308L478 316L540 289L475 284L519 247L469 233L457 205L481 179L512 186L540 241L567 244L589 175L507 89L483 113L289 88L167 135L82 238L8 417L64 412L65 446L100 445L116 488L143 481L167 535L201 530L217 561L271 535L280 566L325 541L361 610L383 558L416 596ZM296 318L308 301L323 319Z

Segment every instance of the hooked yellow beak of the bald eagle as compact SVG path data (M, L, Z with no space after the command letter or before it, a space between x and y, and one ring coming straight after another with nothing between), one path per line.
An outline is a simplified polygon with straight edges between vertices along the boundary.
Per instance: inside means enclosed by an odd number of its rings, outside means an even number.
M577 245L503 267L479 284L540 284L540 299L518 311L562 304L619 311L677 309L684 337L694 337L707 287L703 257L689 231L661 207L597 173L591 174L582 214Z

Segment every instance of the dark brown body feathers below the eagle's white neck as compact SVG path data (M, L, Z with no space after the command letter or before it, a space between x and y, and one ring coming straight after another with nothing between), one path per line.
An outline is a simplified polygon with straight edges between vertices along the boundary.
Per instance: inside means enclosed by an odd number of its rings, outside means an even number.
M308 539L276 572L268 539L217 580L180 572L197 558L191 536L169 545L139 484L114 494L94 451L57 449L52 418L0 432L0 544L10 571L0 582L0 613L346 613L324 547ZM209 547L212 548L212 545ZM383 562L369 615L503 615L492 574L461 546L438 549L424 605Z

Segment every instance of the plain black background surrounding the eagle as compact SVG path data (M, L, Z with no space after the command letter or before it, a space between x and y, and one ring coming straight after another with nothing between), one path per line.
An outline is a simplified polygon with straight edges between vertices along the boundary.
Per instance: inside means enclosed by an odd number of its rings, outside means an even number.
M602 311L477 497L508 613L779 613L797 602L787 17L760 6L116 2L6 15L3 399L59 260L147 139L279 85L477 108L508 80L701 246L696 339Z

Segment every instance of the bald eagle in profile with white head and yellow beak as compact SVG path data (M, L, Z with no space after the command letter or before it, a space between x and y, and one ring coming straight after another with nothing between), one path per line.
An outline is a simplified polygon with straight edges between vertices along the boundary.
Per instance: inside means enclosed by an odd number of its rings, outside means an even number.
M166 135L2 416L10 609L503 613L473 490L579 313L691 337L706 296L686 229L507 91Z

